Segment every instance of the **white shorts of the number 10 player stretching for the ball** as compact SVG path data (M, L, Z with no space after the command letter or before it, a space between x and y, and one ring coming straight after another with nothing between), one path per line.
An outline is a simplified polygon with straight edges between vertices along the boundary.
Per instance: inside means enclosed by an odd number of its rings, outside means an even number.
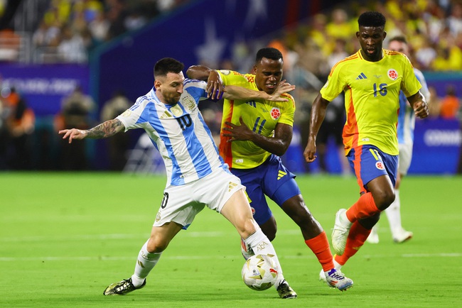
M220 213L227 200L239 189L245 189L239 177L221 168L194 182L169 186L163 191L154 226L174 221L187 229L205 206Z

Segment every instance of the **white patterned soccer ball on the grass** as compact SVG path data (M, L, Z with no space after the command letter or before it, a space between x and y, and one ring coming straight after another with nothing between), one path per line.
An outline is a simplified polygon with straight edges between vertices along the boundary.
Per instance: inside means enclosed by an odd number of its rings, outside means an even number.
M252 255L242 268L242 280L252 290L267 290L277 279L276 262L273 255Z

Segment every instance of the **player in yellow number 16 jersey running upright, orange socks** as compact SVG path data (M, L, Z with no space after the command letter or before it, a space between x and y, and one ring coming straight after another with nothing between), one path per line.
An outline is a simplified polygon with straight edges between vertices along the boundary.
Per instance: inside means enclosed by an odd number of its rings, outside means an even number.
M332 246L335 268L355 255L372 226L394 200L397 177L397 121L402 90L419 118L429 115L421 84L406 55L382 49L385 16L367 11L358 18L356 33L361 49L341 60L313 101L308 144L303 153L308 163L316 159L316 135L326 106L345 93L346 123L343 144L360 186L360 198L348 210L335 215Z

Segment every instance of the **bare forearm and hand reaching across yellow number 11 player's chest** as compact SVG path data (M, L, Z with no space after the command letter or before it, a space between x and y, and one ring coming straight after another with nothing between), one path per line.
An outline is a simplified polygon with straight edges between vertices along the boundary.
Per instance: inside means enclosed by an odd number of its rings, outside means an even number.
M295 89L295 86L289 84L286 80L283 80L278 84L276 91L274 91L273 94L230 85L225 87L223 97L225 99L267 99L269 101L288 101L288 99L281 97L281 94L292 91L293 89Z

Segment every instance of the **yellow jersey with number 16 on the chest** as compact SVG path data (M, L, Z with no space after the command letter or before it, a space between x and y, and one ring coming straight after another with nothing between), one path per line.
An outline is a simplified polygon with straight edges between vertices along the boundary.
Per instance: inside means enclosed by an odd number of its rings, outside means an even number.
M328 101L345 92L345 155L351 148L365 144L398 155L399 90L410 97L421 84L406 55L382 52L383 58L377 62L365 60L360 50L337 62L321 89L321 96Z

